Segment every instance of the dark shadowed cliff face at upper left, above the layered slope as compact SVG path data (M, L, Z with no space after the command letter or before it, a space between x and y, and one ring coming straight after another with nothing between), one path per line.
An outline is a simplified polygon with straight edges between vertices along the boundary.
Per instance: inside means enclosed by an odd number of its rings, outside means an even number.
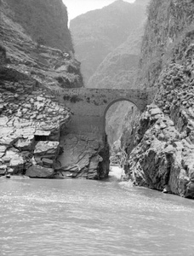
M57 49L74 51L62 0L2 0L7 15L31 38Z

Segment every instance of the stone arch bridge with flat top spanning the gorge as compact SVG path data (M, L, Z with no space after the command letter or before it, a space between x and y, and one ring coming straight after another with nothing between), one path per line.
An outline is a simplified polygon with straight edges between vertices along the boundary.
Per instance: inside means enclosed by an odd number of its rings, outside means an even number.
M73 113L68 130L71 134L104 137L106 112L115 102L128 101L142 112L153 100L153 90L117 90L74 88L57 91L60 102Z

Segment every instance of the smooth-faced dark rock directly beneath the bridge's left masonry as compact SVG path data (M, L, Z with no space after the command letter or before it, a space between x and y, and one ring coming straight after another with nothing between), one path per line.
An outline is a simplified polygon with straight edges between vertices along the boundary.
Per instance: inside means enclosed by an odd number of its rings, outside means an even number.
M68 134L60 138L62 152L54 177L101 179L109 172L109 147L99 137Z

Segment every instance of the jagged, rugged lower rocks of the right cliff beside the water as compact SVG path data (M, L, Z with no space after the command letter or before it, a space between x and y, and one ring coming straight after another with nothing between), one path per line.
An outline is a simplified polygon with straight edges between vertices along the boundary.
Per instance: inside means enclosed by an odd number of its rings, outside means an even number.
M135 185L194 198L194 77L189 59L187 69L174 63L161 73L155 103L142 114L135 133L127 177Z

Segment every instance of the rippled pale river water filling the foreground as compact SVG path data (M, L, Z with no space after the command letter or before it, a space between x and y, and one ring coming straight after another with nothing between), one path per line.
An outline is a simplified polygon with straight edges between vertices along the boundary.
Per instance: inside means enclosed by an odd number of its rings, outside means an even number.
M194 255L194 201L78 179L0 179L0 255Z

